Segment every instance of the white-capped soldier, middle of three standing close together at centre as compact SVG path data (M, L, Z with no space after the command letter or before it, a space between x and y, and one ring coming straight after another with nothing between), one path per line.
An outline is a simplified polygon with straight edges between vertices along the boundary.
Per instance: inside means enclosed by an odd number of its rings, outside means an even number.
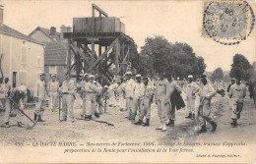
M144 94L144 83L142 82L142 76L140 74L136 75L136 82L134 83L134 98L133 98L133 113L132 113L132 123L135 122L135 117L137 110L139 109L139 121L135 125L141 125L144 117L143 112L143 94Z

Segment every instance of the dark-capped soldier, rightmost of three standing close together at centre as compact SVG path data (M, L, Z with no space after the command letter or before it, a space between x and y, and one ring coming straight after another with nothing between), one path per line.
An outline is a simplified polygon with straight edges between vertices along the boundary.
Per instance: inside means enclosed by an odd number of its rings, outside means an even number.
M147 77L143 78L144 82L144 93L143 93L143 117L146 117L146 123L143 127L150 126L150 119L151 119L151 103L153 102L153 96L155 87L154 85L149 84L149 79ZM142 118L143 119L143 118Z

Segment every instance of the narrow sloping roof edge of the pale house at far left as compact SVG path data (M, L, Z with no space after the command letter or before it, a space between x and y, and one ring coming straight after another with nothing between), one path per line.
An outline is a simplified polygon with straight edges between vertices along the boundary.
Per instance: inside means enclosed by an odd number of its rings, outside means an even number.
M18 30L14 29L12 27L8 27L6 25L0 26L0 33L4 33L4 34L7 34L7 35L11 35L11 36L14 36L14 37L18 37L18 38L25 39L25 40L28 40L28 41L31 41L31 42L42 45L41 42L38 42L38 41L32 39L31 37L29 37L28 35L23 34L23 33L19 32Z

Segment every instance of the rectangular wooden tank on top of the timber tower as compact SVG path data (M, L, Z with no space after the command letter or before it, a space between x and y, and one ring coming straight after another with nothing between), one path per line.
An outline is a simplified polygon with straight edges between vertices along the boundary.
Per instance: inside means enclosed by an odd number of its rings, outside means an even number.
M114 17L95 18L93 29L93 18L73 18L74 32L125 32L125 26L119 19Z

